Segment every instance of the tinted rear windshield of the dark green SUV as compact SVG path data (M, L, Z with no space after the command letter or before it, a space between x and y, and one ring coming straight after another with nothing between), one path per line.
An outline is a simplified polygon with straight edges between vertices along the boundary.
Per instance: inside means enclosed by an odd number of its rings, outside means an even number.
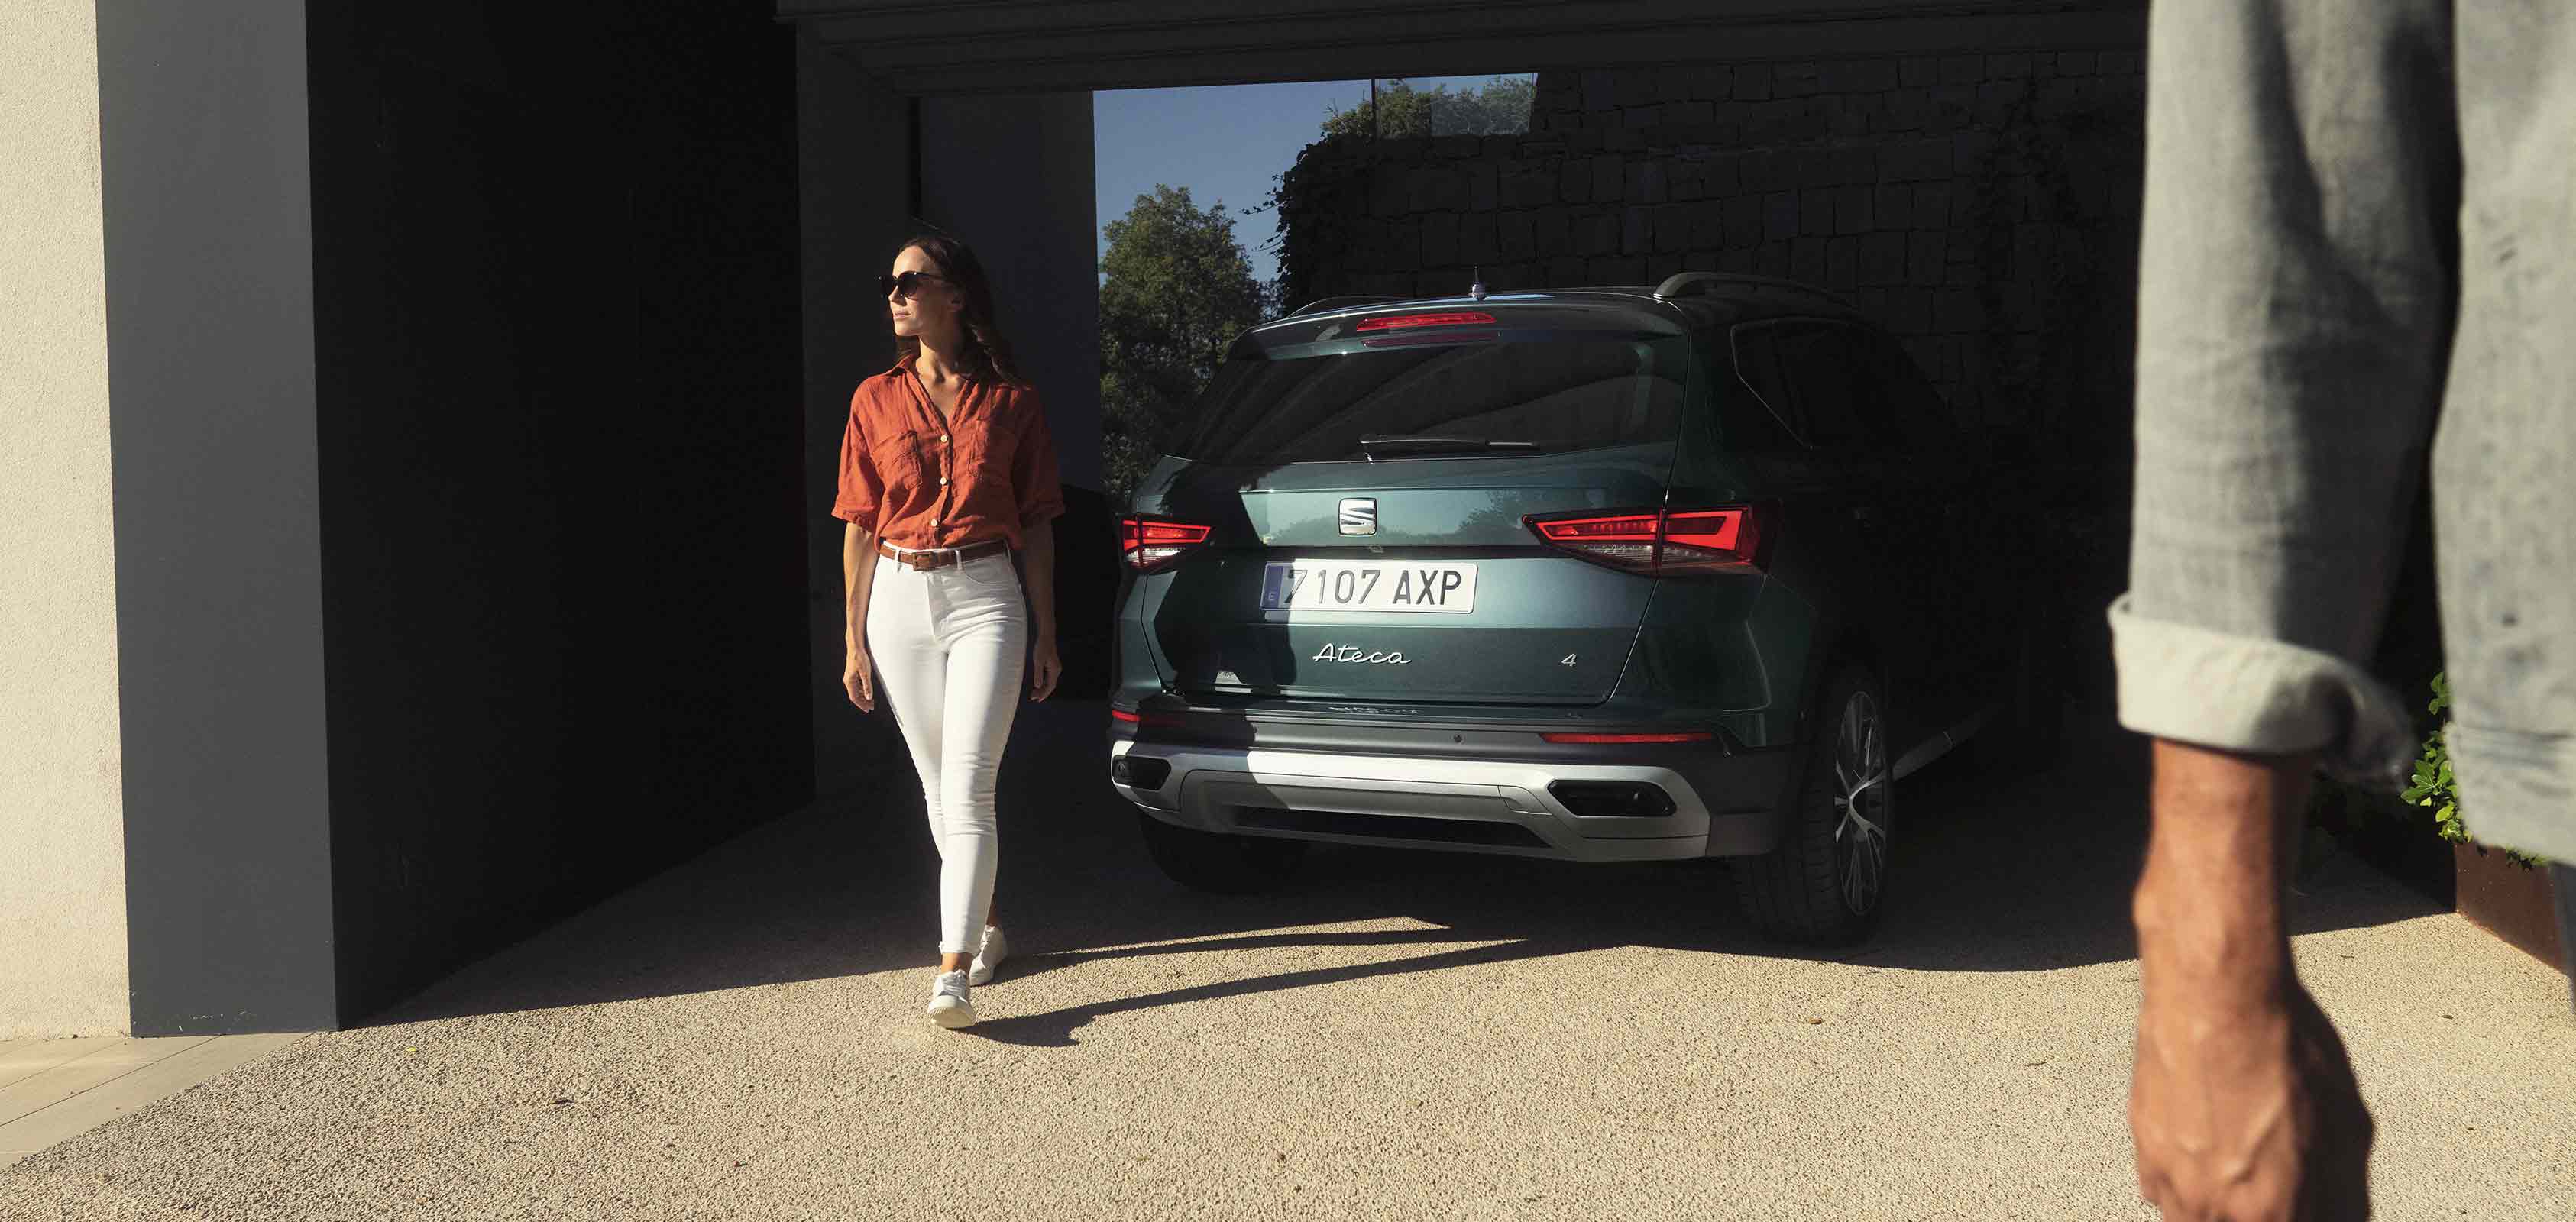
M1672 441L1682 338L1316 343L1236 356L1198 400L1175 456L1285 464L1564 454ZM1368 441L1368 446L1363 446Z

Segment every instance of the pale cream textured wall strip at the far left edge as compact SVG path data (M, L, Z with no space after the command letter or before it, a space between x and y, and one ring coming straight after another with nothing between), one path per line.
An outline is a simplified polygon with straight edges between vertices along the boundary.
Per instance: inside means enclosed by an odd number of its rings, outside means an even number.
M98 10L0 8L0 1039L129 1026Z

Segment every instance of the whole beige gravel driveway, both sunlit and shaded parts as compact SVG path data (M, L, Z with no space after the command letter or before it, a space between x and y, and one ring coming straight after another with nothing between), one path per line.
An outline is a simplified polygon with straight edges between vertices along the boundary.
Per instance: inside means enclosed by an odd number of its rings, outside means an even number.
M1180 892L1023 722L1020 944L938 1031L917 797L835 802L0 1170L0 1217L2123 1219L2141 753L1909 781L1865 951L1723 869L1329 851ZM909 786L909 779L904 779ZM2380 1116L2385 1219L2576 1217L2561 977L2367 866L2298 956Z

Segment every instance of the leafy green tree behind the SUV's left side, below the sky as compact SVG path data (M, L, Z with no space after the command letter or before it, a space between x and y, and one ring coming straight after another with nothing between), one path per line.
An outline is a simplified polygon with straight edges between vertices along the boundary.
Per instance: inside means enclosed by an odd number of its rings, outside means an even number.
M1270 309L1224 204L1154 186L1100 227L1100 441L1108 490L1128 498L1216 376L1226 345Z

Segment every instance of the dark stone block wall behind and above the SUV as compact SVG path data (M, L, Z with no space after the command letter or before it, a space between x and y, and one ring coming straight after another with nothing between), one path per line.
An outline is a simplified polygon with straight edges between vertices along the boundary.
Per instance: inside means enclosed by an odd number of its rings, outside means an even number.
M1520 137L1309 147L1283 289L1458 294L1479 266L1494 291L1790 276L1904 338L1965 425L2107 459L2141 70L2138 49L2058 49L1540 72Z

